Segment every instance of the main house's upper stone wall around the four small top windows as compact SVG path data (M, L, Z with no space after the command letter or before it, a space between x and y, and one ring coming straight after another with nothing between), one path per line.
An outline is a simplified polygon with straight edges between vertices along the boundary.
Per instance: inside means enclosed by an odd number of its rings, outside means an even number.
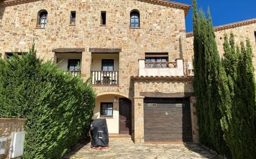
M37 13L48 12L46 28L37 28ZM130 28L130 11L140 11L140 28ZM76 25L70 26L70 12L76 11ZM106 11L106 26L100 25ZM130 94L130 76L138 75L138 59L145 52L168 52L169 60L182 58L186 42L185 11L137 0L35 1L0 9L0 53L26 51L35 40L37 54L53 60L55 48L85 48L81 75L91 71L89 48L120 48L119 87L109 91ZM109 88L96 87L96 92Z

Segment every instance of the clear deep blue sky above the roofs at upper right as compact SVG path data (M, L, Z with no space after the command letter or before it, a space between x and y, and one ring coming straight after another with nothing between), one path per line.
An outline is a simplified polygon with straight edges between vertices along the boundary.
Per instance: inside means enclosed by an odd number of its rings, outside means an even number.
M171 0L192 5L193 0ZM210 7L213 25L224 25L241 20L256 18L256 0L197 0L198 9L203 9L207 13ZM186 32L193 30L193 10L192 7L186 15Z

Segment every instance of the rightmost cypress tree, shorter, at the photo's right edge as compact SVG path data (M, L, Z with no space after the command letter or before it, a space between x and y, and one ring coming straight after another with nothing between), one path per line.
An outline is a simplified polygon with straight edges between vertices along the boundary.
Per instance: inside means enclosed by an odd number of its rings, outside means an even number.
M255 158L255 76L250 41L240 43L232 106L233 158Z

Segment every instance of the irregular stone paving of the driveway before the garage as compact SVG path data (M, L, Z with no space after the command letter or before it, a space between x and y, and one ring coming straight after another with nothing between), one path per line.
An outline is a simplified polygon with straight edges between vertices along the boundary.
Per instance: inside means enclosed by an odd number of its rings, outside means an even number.
M63 159L217 159L216 155L193 144L133 144L127 139L110 139L110 147L103 150L90 148L90 145L80 145Z

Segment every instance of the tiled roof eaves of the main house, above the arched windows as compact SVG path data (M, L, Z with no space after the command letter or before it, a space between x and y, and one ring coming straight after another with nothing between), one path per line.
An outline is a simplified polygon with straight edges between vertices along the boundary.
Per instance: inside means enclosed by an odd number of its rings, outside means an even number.
M3 2L1 2L3 1ZM16 4L23 4L27 2L34 2L34 1L40 1L40 0L0 0L0 6L12 6ZM136 0L136 1L142 1L142 2L149 2L152 4L158 4L161 6L168 6L168 7L174 7L178 9L183 9L185 11L185 16L188 14L188 11L190 10L190 5L183 4L179 2L171 2L168 0Z

